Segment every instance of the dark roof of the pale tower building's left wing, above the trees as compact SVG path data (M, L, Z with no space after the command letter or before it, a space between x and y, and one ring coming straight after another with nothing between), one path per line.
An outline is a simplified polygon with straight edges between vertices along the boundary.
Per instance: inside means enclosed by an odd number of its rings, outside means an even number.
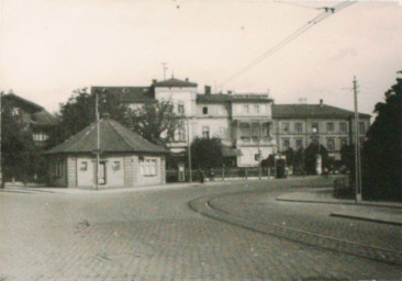
M118 97L123 103L154 101L154 89L152 87L91 87L92 93L103 90L105 90L107 94Z

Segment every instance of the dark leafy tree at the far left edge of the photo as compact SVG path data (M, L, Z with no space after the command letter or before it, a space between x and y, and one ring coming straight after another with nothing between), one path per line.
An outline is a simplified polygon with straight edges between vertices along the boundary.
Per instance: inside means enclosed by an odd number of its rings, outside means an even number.
M14 111L13 102L2 99L1 104L1 167L3 180L24 183L37 172L40 148L35 146L30 125Z

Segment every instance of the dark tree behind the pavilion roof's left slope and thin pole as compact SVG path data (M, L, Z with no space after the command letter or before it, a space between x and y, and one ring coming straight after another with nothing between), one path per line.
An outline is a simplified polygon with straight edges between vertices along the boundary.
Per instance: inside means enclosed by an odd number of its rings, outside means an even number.
M56 113L58 124L49 137L49 146L57 145L96 121L96 92L87 92L87 88L74 91L66 103L60 104ZM119 98L108 92L98 92L99 113L109 113L118 122L124 123L127 108Z

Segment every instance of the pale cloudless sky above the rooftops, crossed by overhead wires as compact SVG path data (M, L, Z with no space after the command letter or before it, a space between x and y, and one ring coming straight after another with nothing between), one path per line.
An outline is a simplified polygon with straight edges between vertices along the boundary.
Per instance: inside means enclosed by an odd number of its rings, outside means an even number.
M402 70L402 3L358 1L234 74L340 2L0 0L0 90L59 109L77 88L189 78L213 91L269 92L276 103L372 113Z

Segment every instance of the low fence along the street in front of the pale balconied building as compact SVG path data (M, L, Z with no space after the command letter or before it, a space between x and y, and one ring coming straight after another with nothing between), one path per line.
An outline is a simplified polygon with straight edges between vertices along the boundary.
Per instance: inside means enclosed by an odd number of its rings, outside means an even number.
M259 168L258 167L246 167L246 168L213 168L213 169L196 169L191 171L193 181L202 181L202 180L228 180L228 179L244 179L248 178L259 178ZM261 177L275 177L273 168L261 168ZM181 181L189 181L190 172L189 170L185 171L185 178ZM179 180L179 171L178 170L167 170L166 171L166 181L167 182L178 182Z

